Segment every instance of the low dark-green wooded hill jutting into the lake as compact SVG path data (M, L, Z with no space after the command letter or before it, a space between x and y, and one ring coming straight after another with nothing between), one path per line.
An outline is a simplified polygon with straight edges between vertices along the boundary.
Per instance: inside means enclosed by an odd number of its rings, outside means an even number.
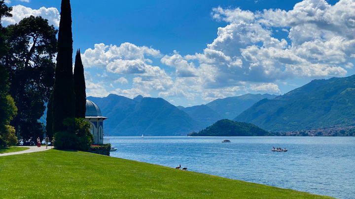
M271 133L245 122L236 122L229 119L221 119L212 126L198 133L193 132L189 136L266 136Z

